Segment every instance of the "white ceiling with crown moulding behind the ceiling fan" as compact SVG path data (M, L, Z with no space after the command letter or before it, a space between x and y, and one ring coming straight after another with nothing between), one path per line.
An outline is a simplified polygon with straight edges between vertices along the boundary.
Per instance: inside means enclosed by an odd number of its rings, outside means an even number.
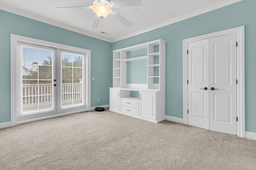
M107 16L100 27L92 29L94 12L87 10L57 11L56 7L82 6L92 0L0 0L0 9L34 20L49 23L71 31L114 42L156 29L241 0L140 0L142 6L114 8L134 25L126 27L115 18Z

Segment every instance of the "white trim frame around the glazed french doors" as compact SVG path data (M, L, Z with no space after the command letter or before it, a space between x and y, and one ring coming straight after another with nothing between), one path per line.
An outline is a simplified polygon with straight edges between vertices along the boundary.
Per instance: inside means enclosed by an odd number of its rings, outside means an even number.
M82 49L82 48L78 48L78 47L72 47L69 45L63 45L63 44L59 44L59 43L53 43L53 42L49 42L49 41L44 41L44 40L40 40L40 39L34 39L34 38L30 38L30 37L24 37L21 35L15 35L15 34L10 34L10 39L11 39L11 55L10 55L10 61L11 61L11 126L15 126L18 124L22 124L22 123L28 123L31 121L38 121L38 120L42 120L42 119L49 119L52 117L59 117L59 116L63 116L63 115L69 115L69 114L73 114L73 113L78 113L78 112L82 112L82 111L90 111L90 107L91 107L91 51L88 49ZM46 117L40 117L40 118L36 118L36 119L31 119L29 121L22 121L22 122L17 122L17 102L16 102L16 97L17 97L17 77L16 77L16 73L17 73L17 43L18 41L20 42L24 42L24 43L32 43L32 44L36 44L36 45L42 45L42 46L46 46L46 47L53 47L56 48L57 51L58 49L66 49L69 51L77 51L80 53L86 53L87 59L88 61L86 61L86 86L88 87L86 89L86 109L84 110L78 110L78 111L70 111L68 113L60 113L60 114L56 114L56 115L50 115L50 116L46 116Z

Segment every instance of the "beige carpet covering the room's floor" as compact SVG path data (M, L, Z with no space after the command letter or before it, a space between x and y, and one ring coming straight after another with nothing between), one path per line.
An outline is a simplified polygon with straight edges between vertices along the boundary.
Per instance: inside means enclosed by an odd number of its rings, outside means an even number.
M84 112L0 129L0 170L256 170L256 141Z

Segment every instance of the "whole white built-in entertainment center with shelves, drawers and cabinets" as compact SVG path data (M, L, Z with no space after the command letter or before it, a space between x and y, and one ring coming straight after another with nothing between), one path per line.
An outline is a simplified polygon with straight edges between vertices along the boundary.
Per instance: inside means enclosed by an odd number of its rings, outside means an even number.
M154 123L165 119L165 47L159 39L113 51L110 111Z

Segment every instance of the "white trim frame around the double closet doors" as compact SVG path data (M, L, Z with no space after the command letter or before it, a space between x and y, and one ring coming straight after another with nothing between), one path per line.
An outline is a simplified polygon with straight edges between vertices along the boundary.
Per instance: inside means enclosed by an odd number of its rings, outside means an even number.
M238 79L237 84L237 136L245 137L245 109L244 109L244 26L226 29L215 33L209 33L206 35L200 35L198 37L192 37L183 40L183 123L188 124L188 43L200 41L203 39L209 39L212 37L218 37L223 35L236 34L236 41L238 47L237 53L237 67L236 77Z

